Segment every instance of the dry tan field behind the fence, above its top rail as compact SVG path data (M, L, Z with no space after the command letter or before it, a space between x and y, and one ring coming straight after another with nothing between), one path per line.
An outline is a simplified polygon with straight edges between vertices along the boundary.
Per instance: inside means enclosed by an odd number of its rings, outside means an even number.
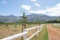
M34 27L37 25L29 24L26 27ZM22 32L22 25L0 25L0 39L5 38L14 34L18 34Z

